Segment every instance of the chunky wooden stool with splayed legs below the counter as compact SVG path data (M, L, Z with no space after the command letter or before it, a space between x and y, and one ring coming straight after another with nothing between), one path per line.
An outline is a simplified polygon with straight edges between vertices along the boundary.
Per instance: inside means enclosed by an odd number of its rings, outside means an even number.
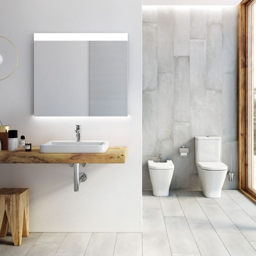
M29 189L0 189L0 237L5 237L10 225L14 245L29 236Z

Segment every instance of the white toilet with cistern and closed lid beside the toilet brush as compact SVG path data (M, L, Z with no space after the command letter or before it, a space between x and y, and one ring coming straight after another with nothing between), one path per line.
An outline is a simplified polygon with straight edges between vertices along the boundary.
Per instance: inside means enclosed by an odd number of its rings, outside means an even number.
M205 197L221 197L227 166L221 162L221 137L196 136L195 162Z

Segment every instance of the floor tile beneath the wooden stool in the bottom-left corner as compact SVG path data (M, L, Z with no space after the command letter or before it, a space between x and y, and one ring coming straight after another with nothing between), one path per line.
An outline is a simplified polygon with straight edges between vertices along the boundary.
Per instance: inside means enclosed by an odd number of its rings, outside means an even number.
M1 256L23 256L29 251L42 233L30 233L28 237L22 237L22 244L14 246L12 240L0 251Z

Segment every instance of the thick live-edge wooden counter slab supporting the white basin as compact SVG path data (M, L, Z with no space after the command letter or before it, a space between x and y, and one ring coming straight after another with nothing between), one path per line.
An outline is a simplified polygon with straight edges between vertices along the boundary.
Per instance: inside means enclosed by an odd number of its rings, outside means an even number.
M105 153L40 153L32 151L0 151L0 163L125 163L127 147L110 147Z

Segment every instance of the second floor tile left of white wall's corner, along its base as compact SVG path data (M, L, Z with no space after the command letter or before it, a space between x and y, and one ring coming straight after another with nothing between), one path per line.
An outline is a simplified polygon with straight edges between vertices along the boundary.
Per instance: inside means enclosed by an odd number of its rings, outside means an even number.
M93 233L84 256L113 256L117 233Z

